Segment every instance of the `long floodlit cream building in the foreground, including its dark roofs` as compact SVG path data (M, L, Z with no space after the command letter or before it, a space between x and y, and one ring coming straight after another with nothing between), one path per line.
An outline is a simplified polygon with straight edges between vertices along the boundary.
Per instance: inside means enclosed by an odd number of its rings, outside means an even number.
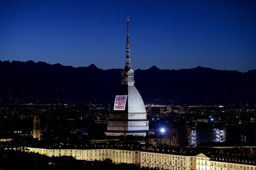
M252 148L252 146L250 146ZM233 147L237 148L237 146ZM177 148L175 148L177 149ZM139 148L113 148L108 145L84 146L83 148L66 146L52 146L49 149L18 147L5 148L24 152L35 152L49 157L72 156L75 159L87 161L104 161L111 159L113 163L133 163L141 168L158 168L168 170L256 170L256 159L251 155L199 153L196 151L180 150L143 150Z

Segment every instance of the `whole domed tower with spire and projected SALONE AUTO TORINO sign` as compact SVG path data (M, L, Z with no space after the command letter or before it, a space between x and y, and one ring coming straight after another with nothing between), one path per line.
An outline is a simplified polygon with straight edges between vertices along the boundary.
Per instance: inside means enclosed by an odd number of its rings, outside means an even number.
M140 135L148 130L147 113L140 93L134 86L134 71L131 68L129 44L129 18L127 19L127 41L125 67L122 71L122 86L116 94L109 114L106 135Z

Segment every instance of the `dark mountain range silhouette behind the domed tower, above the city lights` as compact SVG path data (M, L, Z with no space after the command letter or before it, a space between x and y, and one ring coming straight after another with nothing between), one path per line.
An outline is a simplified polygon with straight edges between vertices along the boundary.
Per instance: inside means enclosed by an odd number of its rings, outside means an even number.
M111 103L121 86L122 70L0 60L0 102ZM145 104L256 104L256 69L241 73L152 66L135 70L134 79Z

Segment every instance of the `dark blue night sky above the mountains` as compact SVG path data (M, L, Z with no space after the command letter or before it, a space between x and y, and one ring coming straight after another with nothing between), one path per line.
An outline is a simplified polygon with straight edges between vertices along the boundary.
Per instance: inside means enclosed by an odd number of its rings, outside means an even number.
M0 1L0 60L123 68L256 68L256 1Z

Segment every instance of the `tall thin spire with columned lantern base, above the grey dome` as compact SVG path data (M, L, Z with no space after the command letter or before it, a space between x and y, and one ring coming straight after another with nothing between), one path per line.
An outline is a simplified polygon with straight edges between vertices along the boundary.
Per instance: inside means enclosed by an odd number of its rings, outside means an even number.
M134 71L131 68L131 58L130 58L130 41L129 41L129 17L127 17L127 32L126 32L126 57L125 57L125 67L122 72L122 84L123 85L133 85L134 84Z

